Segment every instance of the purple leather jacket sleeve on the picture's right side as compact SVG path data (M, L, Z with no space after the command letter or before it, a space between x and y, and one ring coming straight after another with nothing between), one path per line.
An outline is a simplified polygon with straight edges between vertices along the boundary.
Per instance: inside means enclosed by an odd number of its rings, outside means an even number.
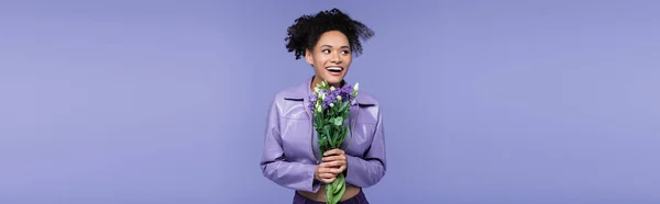
M346 183L360 188L369 188L381 181L387 169L385 157L385 134L383 131L383 117L378 111L376 128L370 148L364 157L346 155Z

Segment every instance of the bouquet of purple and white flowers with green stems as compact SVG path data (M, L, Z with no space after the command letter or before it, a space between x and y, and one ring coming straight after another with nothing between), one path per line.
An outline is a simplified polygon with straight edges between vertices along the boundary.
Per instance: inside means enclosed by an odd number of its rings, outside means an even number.
M358 95L358 86L345 84L336 89L327 81L319 83L310 95L309 109L314 112L314 127L318 133L319 152L340 148L349 133L351 105ZM345 192L345 175L340 173L337 179L326 185L326 201L330 204L339 202Z

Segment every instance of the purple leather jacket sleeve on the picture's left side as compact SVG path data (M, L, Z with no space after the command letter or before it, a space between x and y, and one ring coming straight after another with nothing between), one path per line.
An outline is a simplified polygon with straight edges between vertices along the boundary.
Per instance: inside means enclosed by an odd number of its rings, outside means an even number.
M264 149L261 169L268 180L278 185L307 192L317 192L320 182L314 179L316 165L287 161L282 148L279 135L279 115L277 104L273 101L267 116Z

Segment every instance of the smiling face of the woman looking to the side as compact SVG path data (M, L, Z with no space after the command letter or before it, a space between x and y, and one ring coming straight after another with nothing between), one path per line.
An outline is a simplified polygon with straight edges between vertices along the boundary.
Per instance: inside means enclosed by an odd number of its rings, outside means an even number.
M339 87L349 72L352 59L349 38L343 33L323 33L314 48L305 52L305 60L314 66L316 73L312 87L322 80Z

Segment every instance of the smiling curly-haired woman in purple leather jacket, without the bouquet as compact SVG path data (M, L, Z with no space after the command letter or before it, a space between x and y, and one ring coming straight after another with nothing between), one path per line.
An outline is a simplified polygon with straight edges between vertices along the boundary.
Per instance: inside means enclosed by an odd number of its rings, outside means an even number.
M309 95L326 80L341 88L353 54L362 53L360 38L373 31L338 9L302 15L289 26L286 47L296 59L302 56L315 75L298 87L275 94L271 105L265 145L261 159L264 177L296 190L296 203L323 203L324 184L337 174L346 177L346 190L340 203L369 203L362 188L376 184L385 174L385 140L378 102L360 90L351 107L351 131L342 148L318 152Z

